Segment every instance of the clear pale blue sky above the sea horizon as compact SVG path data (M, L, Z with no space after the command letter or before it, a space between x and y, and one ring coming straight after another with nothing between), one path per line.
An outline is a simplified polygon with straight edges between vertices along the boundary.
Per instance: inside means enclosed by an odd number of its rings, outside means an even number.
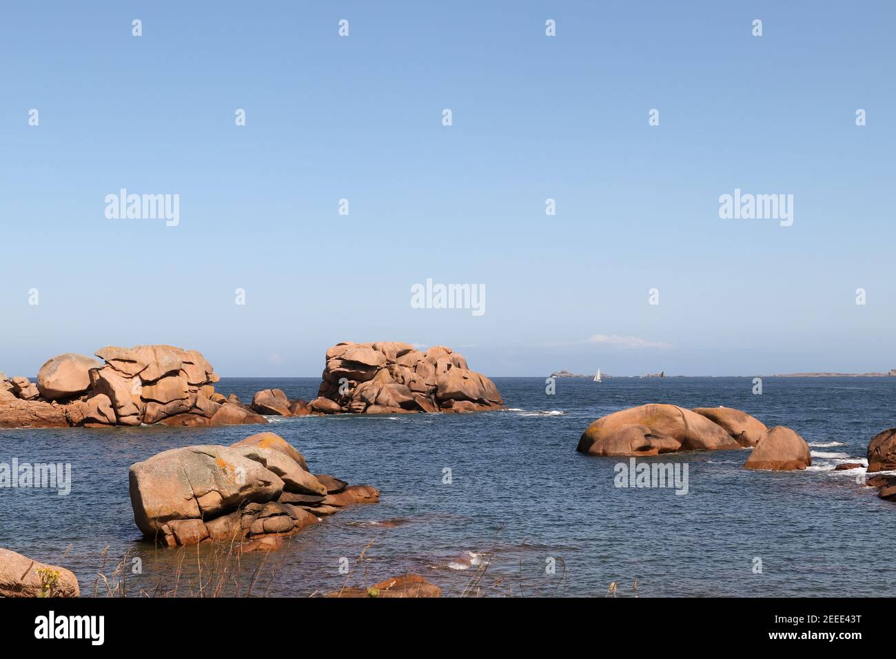
M894 19L4 3L0 370L171 343L224 377L316 376L342 340L449 345L492 376L896 368ZM120 188L180 195L179 224L107 219ZM793 225L720 219L735 188L794 195ZM485 313L412 308L427 278L483 285Z

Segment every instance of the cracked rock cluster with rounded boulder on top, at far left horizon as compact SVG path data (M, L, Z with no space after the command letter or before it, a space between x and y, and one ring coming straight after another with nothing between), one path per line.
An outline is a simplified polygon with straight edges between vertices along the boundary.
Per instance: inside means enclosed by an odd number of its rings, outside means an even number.
M138 345L96 354L105 363L71 353L48 360L37 386L0 378L0 428L267 423L215 392L219 377L201 352Z

